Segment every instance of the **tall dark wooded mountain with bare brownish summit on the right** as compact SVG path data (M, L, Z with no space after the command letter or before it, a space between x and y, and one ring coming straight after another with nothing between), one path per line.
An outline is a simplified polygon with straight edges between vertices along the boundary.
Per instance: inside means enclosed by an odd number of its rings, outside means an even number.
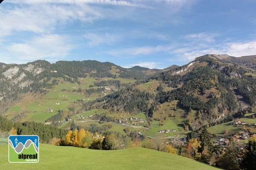
M163 89L174 88L159 93L156 102L179 100L181 108L198 111L195 120L185 122L196 130L205 121L215 124L251 112L256 103L255 60L256 56L207 54L179 68L163 70L149 80L161 81Z

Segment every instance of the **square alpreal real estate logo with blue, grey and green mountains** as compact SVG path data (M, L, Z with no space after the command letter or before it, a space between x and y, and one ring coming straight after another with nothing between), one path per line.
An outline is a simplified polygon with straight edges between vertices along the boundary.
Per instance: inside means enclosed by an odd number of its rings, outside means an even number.
M37 135L9 136L9 162L37 163L39 161L39 137Z

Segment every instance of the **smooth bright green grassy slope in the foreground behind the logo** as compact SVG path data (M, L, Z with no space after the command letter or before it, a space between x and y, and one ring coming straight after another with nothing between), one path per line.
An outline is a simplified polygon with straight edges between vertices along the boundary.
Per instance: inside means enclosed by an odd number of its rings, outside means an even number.
M108 151L40 144L36 164L9 163L7 144L0 146L0 153L5 170L217 170L192 159L145 148Z

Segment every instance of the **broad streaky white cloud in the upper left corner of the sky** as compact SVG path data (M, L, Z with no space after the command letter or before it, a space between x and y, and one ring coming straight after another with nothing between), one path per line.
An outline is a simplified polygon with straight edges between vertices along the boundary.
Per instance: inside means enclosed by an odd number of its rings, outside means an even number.
M83 6L74 5L70 8L70 6L64 5L32 3L1 8L0 16L0 36L6 36L14 31L49 34L55 31L57 26L65 26L76 20L92 22L101 18L103 14L86 4Z

